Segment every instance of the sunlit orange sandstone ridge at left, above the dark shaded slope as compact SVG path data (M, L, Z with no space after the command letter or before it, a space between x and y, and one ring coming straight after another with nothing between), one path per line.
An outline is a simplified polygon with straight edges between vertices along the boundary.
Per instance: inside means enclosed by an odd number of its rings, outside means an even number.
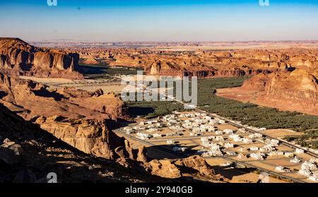
M190 177L201 181L226 181L216 175L201 157L148 162L144 147L131 148L129 141L112 132L114 121L119 117L125 117L125 107L119 97L113 94L104 95L102 90L95 92L73 88L49 90L46 86L31 80L0 74L0 102L40 127L35 128L45 133L52 133L54 137L83 153L114 160L124 167L137 168L143 173L169 179ZM6 125L10 123L5 118L3 120L7 122ZM20 132L23 131L21 129ZM6 136L12 138L18 134L8 133ZM41 136L40 133L37 135ZM24 151L20 151L19 145L6 141L4 145L0 145L1 150L4 148L6 151L1 151L0 160L4 160L9 165L20 162L18 155ZM156 163L160 166L156 167ZM176 171L167 174L165 172L167 168Z

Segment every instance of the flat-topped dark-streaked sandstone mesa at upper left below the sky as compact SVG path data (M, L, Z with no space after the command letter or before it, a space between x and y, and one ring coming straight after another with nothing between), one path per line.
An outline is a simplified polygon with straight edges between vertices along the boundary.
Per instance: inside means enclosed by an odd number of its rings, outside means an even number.
M74 71L79 55L44 49L18 38L0 38L0 72L11 76L37 76L81 79Z

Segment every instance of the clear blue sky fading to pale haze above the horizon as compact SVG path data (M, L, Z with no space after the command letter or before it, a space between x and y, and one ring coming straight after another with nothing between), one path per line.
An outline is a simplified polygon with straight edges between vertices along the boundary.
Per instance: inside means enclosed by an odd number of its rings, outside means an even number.
M318 40L318 0L0 1L0 37L26 41Z

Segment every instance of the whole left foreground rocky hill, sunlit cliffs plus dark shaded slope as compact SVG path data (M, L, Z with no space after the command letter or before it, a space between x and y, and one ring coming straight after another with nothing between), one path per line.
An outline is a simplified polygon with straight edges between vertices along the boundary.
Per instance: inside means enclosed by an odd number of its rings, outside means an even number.
M90 179L86 178L90 176L95 176L93 181L110 181L107 177L122 181L119 178L121 175L117 177L114 174L122 174L126 177L123 179L125 181L228 181L216 174L204 158L150 161L144 147L131 148L129 141L112 132L117 118L124 118L126 114L124 103L114 94L105 95L102 90L87 92L74 88L50 90L41 83L0 74L0 102L0 141L3 141L0 148L4 150L0 152L0 165L23 170L11 170L14 176L1 176L0 181L20 180L15 178L20 176L31 177L28 181L36 181L35 172L24 169L25 165L34 166L33 170L44 176L43 173L51 165L35 166L44 163L45 156L49 157L47 160L61 163L59 170L63 171L64 181L83 181ZM29 126L35 131L29 130ZM43 141L45 136L49 136L49 143ZM63 147L59 147L61 142L64 142ZM30 157L32 154L35 156ZM20 155L23 155L22 163ZM69 158L73 162L67 162ZM115 166L119 167L115 169ZM76 167L85 168L79 170L83 174L76 178L72 177L75 174L71 177L63 174L64 171L77 174ZM87 172L87 167L90 172ZM122 170L122 167L126 169ZM5 172L0 170L0 174ZM144 177L147 174L148 177Z

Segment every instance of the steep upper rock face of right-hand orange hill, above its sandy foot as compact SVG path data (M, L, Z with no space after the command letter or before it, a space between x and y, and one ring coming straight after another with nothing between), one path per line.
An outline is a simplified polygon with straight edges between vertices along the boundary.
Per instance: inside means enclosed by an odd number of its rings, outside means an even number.
M292 72L260 74L246 80L242 88L259 91L259 97L271 101L288 101L302 107L318 106L317 76L302 69Z

